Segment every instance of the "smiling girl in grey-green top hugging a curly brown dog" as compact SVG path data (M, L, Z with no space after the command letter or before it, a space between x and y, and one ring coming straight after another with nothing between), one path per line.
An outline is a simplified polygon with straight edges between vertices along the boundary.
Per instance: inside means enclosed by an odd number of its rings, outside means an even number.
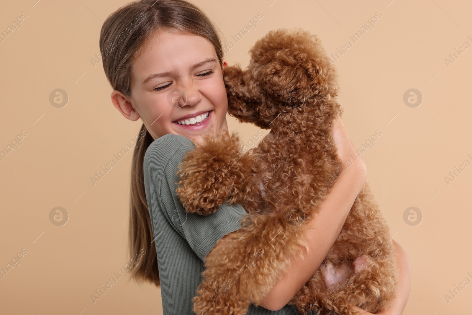
M203 134L228 129L222 75L228 64L221 48L217 27L185 0L129 3L111 14L101 29L112 102L126 119L141 119L145 134L133 156L129 233L131 256L142 249L146 255L133 277L160 285L164 314L192 314L205 257L219 246L220 238L241 226L246 214L239 204L223 205L208 216L187 214L175 194L176 168L185 152L201 144ZM332 134L344 164L355 147L340 119ZM319 214L307 222L310 251L291 262L285 277L247 314L297 314L287 303L320 266L365 179L359 158L339 176ZM410 267L398 244L396 255L397 299L384 313L399 315L409 294ZM338 280L348 276L339 275Z

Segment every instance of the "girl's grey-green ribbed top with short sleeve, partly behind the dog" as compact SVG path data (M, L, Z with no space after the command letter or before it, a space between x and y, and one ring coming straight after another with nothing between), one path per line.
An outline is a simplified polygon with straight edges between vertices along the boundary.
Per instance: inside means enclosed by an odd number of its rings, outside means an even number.
M195 314L195 291L202 281L203 261L225 234L241 227L246 212L240 204L222 205L210 215L186 213L176 195L177 165L194 149L185 136L156 139L144 155L144 185L159 262L164 315ZM279 311L251 305L248 315L297 315L295 306Z

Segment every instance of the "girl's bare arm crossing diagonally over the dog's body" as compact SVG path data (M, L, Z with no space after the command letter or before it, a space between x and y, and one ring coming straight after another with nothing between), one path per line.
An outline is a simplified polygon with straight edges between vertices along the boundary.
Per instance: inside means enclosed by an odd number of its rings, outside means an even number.
M363 163L354 163L339 175L323 200L319 212L307 222L309 227L306 240L310 251L303 250L304 259L300 257L291 260L285 275L275 283L260 306L270 310L282 308L310 279L341 232L354 200L365 183L365 178Z

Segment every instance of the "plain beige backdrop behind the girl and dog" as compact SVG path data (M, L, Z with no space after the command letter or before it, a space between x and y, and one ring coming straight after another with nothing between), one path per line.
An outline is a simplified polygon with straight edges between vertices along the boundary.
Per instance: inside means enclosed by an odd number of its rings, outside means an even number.
M99 53L102 22L120 1L8 1L0 31L26 12L20 29L0 43L0 149L26 130L26 137L0 162L0 267L28 251L0 280L2 314L162 314L160 289L118 280L94 305L91 294L129 260L127 227L132 153L93 186L91 176L107 164L141 127L112 106L111 87ZM472 162L471 65L468 48L447 67L445 59L472 44L470 1L195 0L226 36L229 64L248 64L248 49L269 30L300 26L320 36L331 54L380 12L374 28L336 62L339 102L350 138L360 148L368 182L391 235L409 255L413 274L404 314L465 314L472 285L447 302L445 295L468 278L472 167L447 185L445 177ZM256 28L239 43L231 38L262 12ZM80 78L80 79L79 79ZM63 108L49 94L64 89ZM423 101L410 108L405 91ZM244 141L259 130L229 118ZM264 130L264 134L268 131ZM51 209L69 213L55 226ZM405 223L405 209L418 207L421 224ZM468 282L467 282L468 283ZM464 285L463 285L464 286ZM451 296L452 297L452 296ZM176 301L178 303L178 301ZM82 312L82 313L81 313ZM436 313L435 313L436 312Z

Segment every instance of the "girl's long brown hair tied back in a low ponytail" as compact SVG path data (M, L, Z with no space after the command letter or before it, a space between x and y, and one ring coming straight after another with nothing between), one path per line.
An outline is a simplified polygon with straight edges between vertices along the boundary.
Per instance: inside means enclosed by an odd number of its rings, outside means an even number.
M131 97L131 71L139 49L158 30L172 29L202 36L215 47L220 67L223 51L218 27L194 4L185 0L141 0L126 4L113 12L100 32L100 51L105 75L114 90ZM217 31L219 33L217 33ZM132 278L160 285L157 254L151 217L144 189L144 153L154 141L146 127L133 153L129 218L129 254L137 257L144 249L141 263L132 268Z

